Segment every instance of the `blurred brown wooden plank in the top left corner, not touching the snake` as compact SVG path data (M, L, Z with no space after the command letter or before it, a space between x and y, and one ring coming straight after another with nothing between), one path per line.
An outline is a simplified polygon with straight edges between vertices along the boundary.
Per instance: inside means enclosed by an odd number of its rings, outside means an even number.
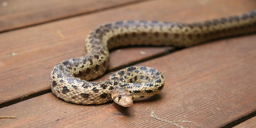
M136 2L140 0L0 0L0 32Z

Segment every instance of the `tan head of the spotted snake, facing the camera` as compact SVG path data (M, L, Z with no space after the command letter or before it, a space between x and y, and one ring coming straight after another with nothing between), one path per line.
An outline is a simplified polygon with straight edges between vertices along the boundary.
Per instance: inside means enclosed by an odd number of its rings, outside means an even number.
M124 88L116 87L111 97L117 104L123 107L130 107L133 104L132 94Z

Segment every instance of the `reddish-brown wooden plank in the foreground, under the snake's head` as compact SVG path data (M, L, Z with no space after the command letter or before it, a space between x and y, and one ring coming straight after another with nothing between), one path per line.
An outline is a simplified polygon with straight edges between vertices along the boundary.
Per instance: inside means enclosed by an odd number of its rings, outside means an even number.
M3 127L174 127L187 120L198 127L222 127L256 109L256 35L224 39L184 49L137 65L160 70L163 91L124 108L116 103L84 106L52 93L0 109ZM103 79L101 79L103 80ZM177 123L197 127L191 123Z

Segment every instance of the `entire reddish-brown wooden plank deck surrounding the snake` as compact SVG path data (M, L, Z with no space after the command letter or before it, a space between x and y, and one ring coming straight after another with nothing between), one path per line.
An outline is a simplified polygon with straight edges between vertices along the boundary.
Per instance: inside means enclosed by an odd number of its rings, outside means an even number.
M58 99L49 75L60 61L82 56L84 39L115 20L195 22L238 15L252 0L0 0L0 127L256 127L256 35L177 50L122 48L111 52L103 81L118 69L149 66L165 76L163 91L136 100L77 105Z

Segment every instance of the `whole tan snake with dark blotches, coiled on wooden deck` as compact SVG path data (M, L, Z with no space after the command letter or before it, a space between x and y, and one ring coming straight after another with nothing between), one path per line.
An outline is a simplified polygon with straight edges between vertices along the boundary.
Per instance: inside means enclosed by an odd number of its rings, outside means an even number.
M52 92L82 105L114 101L130 107L134 99L159 94L164 76L155 68L132 66L103 82L91 82L108 69L109 50L126 46L190 47L214 39L256 32L256 10L242 15L195 23L122 20L105 23L85 38L85 55L58 63L50 74ZM129 55L128 55L129 56Z

